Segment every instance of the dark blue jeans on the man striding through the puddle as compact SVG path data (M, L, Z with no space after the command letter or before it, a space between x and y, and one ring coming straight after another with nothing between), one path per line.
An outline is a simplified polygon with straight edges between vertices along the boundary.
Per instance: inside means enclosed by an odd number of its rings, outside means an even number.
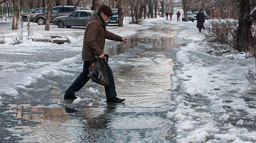
M84 61L83 71L80 73L77 79L75 79L75 81L71 84L71 86L67 89L66 94L70 96L75 96L75 92L78 92L90 80L90 78L88 77L89 67L90 67L90 61ZM109 81L109 85L104 86L107 99L110 97L117 96L115 91L115 82L114 82L113 72L109 65L108 65L108 81Z

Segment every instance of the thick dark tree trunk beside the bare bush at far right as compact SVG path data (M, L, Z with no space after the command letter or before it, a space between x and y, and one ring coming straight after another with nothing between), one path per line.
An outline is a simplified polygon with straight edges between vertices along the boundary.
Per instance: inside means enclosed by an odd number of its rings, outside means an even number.
M249 48L249 41L251 40L251 15L250 15L250 0L240 1L239 19L236 39L236 49L238 51L245 51Z

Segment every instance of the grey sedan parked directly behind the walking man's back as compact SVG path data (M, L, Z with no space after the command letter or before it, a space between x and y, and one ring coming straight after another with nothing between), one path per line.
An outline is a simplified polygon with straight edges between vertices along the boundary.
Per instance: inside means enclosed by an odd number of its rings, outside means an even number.
M71 26L86 26L86 22L89 17L94 13L92 10L77 10L67 16L60 16L54 18L53 25L57 25L59 28ZM106 23L108 25L108 22Z

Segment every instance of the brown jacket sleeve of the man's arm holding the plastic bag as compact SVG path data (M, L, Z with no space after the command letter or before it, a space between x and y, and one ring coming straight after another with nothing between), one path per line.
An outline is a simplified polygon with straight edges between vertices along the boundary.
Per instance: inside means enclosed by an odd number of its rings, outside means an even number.
M103 54L103 50L100 49L98 44L96 43L96 37L99 33L98 23L92 21L91 23L86 25L87 28L87 35L86 35L86 42L87 44L93 49L94 54L100 56Z

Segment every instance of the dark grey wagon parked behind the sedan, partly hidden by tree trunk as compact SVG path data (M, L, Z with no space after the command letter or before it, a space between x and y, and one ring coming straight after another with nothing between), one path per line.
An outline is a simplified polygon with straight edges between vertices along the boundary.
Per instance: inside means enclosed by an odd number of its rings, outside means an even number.
M76 6L56 6L52 8L51 12L51 21L53 23L53 19L59 16L66 16L71 14L72 12L79 10ZM44 25L46 21L47 12L35 15L32 18L32 22L38 23L38 25Z

